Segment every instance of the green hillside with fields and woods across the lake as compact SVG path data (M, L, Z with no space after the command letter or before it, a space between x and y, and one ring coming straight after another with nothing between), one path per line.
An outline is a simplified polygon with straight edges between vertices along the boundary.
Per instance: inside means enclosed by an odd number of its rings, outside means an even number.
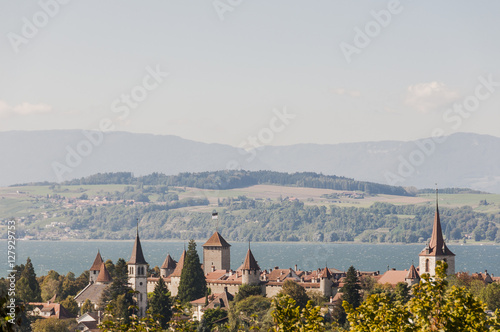
M230 241L415 243L425 242L432 229L435 195L427 190L409 196L272 184L203 189L164 182L200 178L183 174L98 174L73 184L0 188L0 235L13 218L19 238L131 239L140 219L144 239L202 239L216 227L213 210ZM201 178L216 180L214 174ZM307 177L313 175L302 180ZM112 179L118 184L92 184ZM443 191L451 192L439 196L447 239L500 241L500 195Z

